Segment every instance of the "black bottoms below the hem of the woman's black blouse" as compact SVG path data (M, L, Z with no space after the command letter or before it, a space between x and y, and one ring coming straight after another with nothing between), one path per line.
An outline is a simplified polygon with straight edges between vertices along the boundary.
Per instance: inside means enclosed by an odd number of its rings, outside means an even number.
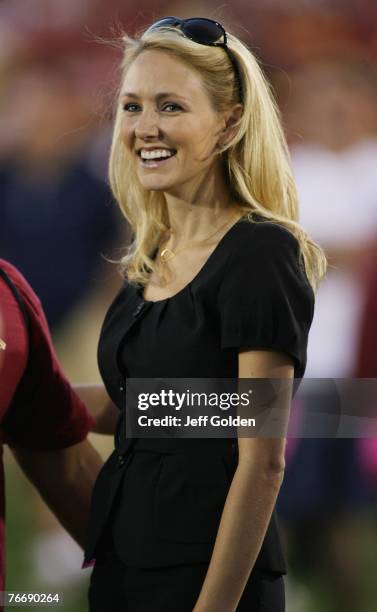
M89 612L192 612L208 563L135 568L114 550L96 561L89 589ZM237 612L284 612L284 578L253 570Z

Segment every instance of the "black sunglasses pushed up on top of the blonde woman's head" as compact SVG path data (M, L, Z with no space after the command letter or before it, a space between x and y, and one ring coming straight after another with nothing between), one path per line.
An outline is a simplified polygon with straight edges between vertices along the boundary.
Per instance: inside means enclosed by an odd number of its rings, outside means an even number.
M179 17L163 17L162 19L155 21L155 23L152 23L152 25L145 30L144 34L148 34L153 30L164 27L178 28L186 36L186 38L189 38L200 45L222 47L232 63L242 100L242 81L240 71L237 62L227 45L228 39L226 30L221 23L218 21L213 21L212 19L206 19L205 17L190 17L189 19L180 19Z

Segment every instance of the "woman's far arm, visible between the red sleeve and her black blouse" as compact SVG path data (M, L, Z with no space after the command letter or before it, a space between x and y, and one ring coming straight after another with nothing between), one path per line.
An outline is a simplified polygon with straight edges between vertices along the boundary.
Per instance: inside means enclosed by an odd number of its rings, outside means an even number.
M79 398L95 418L95 433L114 434L119 410L109 398L102 384L73 385Z

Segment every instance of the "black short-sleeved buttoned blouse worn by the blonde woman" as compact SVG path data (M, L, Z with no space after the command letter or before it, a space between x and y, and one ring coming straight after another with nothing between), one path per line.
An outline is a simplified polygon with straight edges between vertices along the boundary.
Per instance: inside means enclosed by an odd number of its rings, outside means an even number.
M237 378L241 347L286 353L295 377L304 374L314 295L298 242L281 225L255 219L234 224L174 296L147 301L141 287L125 282L106 315L99 367L121 416L116 450L94 491L87 559L111 523L129 565L209 560L237 465L229 439L127 438L127 377ZM275 513L256 567L285 572Z

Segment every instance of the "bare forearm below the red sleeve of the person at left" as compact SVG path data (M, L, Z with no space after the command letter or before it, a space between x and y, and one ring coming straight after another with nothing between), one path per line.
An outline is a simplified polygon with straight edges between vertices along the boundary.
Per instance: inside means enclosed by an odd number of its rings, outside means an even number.
M55 451L12 447L12 452L57 519L83 547L92 489L102 466L97 451L84 440Z

